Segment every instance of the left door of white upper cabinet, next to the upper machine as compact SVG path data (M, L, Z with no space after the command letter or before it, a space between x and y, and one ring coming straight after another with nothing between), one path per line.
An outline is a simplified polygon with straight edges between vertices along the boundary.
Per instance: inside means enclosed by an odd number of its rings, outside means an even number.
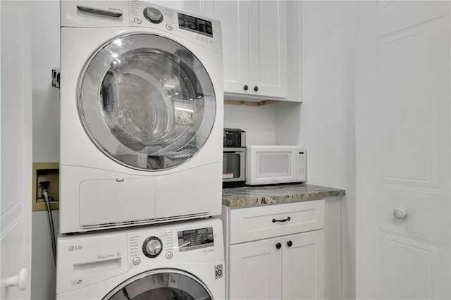
M249 89L249 2L215 0L207 15L221 21L223 37L224 92L247 94Z

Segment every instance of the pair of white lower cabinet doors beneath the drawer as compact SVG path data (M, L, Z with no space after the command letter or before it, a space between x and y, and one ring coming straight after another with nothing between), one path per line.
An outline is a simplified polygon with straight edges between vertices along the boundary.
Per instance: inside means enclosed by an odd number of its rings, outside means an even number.
M229 299L324 299L324 230L229 246Z

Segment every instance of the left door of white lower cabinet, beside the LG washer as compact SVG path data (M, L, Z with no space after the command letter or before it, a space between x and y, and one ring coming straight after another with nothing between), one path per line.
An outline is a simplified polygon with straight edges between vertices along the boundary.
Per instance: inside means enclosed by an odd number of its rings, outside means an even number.
M280 299L280 238L230 246L229 299Z

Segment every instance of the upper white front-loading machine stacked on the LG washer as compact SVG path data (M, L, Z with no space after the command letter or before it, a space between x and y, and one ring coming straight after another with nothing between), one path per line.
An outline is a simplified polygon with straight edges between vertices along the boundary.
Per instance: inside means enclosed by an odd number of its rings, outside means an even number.
M220 23L61 1L60 232L221 213Z

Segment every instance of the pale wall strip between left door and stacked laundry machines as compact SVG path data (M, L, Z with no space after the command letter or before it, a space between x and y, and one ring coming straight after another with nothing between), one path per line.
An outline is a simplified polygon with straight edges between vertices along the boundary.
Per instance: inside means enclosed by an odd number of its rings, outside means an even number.
M33 161L58 162L59 89L51 87L51 69L59 67L59 1L32 1L32 11ZM47 212L33 211L31 299L55 299L55 281Z

